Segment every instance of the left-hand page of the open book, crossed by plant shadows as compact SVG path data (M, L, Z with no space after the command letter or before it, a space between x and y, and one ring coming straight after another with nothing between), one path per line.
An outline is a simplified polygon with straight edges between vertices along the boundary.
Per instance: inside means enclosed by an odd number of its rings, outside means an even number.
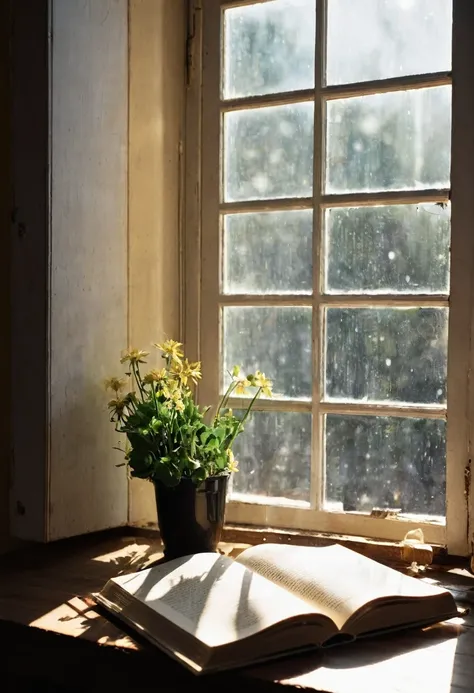
M215 553L186 556L111 582L125 590L126 598L132 595L210 647L312 611L296 595Z

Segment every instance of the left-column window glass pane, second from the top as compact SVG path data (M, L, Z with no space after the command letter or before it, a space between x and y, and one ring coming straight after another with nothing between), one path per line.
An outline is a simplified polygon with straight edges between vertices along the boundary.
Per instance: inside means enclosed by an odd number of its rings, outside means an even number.
M227 202L312 194L313 111L309 102L225 114Z

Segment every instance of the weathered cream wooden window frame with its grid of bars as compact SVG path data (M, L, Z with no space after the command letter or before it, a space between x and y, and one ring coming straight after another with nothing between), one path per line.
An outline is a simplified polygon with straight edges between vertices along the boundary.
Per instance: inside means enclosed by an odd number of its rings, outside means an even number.
M312 508L268 505L256 502L228 504L227 520L233 524L252 524L261 527L312 530L375 537L400 541L406 532L421 527L425 541L446 546L456 555L472 553L470 492L472 424L474 423L474 392L469 374L474 365L473 282L474 267L474 47L470 31L474 12L470 3L453 0L453 96L452 96L452 163L451 191L424 190L414 192L361 193L323 195L322 167L315 157L313 197L300 200L221 203L220 193L220 55L221 11L225 7L254 4L256 0L190 0L188 25L188 77L186 98L186 155L185 155L185 246L183 265L186 277L184 291L184 339L188 352L203 362L204 378L199 387L199 401L216 402L219 391L218 350L219 312L222 305L311 305L313 306L313 353L319 353L320 333L318 315L321 302L319 282L319 248L314 243L314 293L311 296L222 296L219 293L221 211L250 211L289 208L314 208L314 230L317 234L319 216L327 206L374 203L446 202L452 204L451 287L450 298L445 296L347 296L348 305L449 305L448 350L448 416L447 416L447 510L446 523L422 522L419 517L380 519L364 513L328 512L318 510L320 502L321 436L313 435L311 471ZM265 2L267 0L261 0ZM324 55L325 0L317 2L317 56ZM416 75L390 80L376 80L335 87L323 86L323 61L317 60L315 88L291 94L265 95L226 101L225 110L250 108L259 105L316 100L342 96L366 95L451 83L451 73ZM315 109L315 149L324 144L323 109ZM320 133L318 142L317 134ZM324 150L322 150L324 151ZM317 236L315 236L318 241ZM324 304L341 304L339 298L324 296ZM316 319L315 319L316 318ZM317 370L315 369L315 373ZM320 402L320 379L313 379L312 402L260 401L260 409L285 411L340 412L341 406ZM451 394L455 393L455 394ZM384 413L411 415L422 413L444 418L438 407L403 407L383 405L342 405L345 413ZM315 464L314 460L319 462Z

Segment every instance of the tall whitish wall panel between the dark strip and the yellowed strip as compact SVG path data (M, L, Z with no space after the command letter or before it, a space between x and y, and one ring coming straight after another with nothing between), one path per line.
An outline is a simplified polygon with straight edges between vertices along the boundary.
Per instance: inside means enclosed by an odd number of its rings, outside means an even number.
M53 0L49 539L127 522L102 380L127 344L127 0Z

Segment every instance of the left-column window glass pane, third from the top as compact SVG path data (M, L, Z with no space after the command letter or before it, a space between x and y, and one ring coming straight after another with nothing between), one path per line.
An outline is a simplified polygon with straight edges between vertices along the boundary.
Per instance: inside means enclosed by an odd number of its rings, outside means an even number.
M229 214L224 219L224 292L310 294L313 212Z

